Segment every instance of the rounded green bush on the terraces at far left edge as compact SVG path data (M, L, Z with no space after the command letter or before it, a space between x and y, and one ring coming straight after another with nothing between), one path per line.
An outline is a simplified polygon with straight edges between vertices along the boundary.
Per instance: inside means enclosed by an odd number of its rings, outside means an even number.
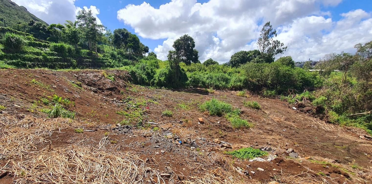
M11 51L21 50L23 46L27 45L27 41L23 36L9 32L2 37L1 43Z

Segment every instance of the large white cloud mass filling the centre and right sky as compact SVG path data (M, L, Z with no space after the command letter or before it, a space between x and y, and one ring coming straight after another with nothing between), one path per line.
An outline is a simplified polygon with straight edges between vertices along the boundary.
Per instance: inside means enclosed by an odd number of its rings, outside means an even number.
M371 15L364 10L341 14L332 20L321 7L337 6L341 0L172 0L159 8L150 3L128 4L117 18L144 38L166 39L154 48L166 59L173 41L183 34L195 39L200 60L220 63L240 50L257 49L262 25L270 21L276 39L288 45L284 55L295 60L319 59L328 52L353 52L356 43L372 40ZM279 57L279 56L278 56Z

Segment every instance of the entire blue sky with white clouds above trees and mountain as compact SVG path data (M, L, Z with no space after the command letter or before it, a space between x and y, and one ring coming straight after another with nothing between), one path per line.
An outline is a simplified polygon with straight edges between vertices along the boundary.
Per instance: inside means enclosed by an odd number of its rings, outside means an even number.
M372 40L371 0L13 1L49 24L74 20L78 10L92 9L109 29L136 33L159 59L166 59L175 39L189 34L202 62L227 62L235 52L257 49L259 31L267 21L288 46L283 56L295 61L353 53L355 44Z

